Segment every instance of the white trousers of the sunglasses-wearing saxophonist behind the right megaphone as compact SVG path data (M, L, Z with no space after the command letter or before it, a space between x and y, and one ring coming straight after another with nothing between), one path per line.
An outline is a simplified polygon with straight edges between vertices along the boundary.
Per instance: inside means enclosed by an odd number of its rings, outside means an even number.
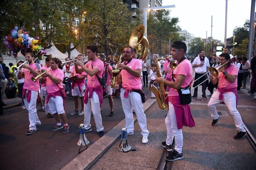
M121 102L125 114L125 128L127 129L127 133L134 131L134 123L133 123L133 114L132 114L132 107L136 113L138 123L141 129L141 135L145 136L149 134L147 130L147 120L146 115L143 111L143 104L141 101L141 97L139 93L131 92L128 93L128 97L124 98L125 89L121 89L120 97Z

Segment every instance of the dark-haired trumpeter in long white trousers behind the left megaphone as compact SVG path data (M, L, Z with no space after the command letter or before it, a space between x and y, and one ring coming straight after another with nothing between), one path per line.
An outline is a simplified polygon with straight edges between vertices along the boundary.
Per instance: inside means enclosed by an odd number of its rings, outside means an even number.
M85 71L87 73L87 87L84 94L84 126L85 132L92 131L91 128L91 111L96 124L97 132L99 136L104 135L104 127L102 126L102 118L100 115L100 108L103 102L103 90L102 85L100 85L100 78L102 78L104 64L97 58L98 47L95 45L87 46L87 56L88 60L85 65L81 61L74 61L76 73L82 73ZM79 68L78 66L81 66ZM98 79L98 77L99 79Z

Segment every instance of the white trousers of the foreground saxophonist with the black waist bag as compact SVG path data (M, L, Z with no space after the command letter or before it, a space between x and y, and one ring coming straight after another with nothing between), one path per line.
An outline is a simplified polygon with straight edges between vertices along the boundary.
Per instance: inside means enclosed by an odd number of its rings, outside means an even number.
M182 152L182 146L183 146L183 134L181 129L178 129L177 127L176 115L175 115L173 104L171 102L169 102L169 111L167 116L165 117L165 124L167 128L167 138L165 142L167 145L171 145L172 137L174 134L174 137L175 137L174 149L180 154Z

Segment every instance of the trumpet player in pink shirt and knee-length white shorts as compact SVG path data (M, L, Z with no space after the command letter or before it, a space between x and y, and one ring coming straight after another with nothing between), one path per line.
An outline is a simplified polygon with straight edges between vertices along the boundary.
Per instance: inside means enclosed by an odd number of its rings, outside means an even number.
M50 112L54 115L56 120L56 125L52 128L52 131L61 129L64 126L63 133L67 133L69 126L64 111L63 93L65 94L65 91L62 86L64 73L59 68L58 58L52 58L50 60L50 67L50 71L43 74L45 78L40 79L40 82L44 83L46 81L47 97L45 103L48 103ZM60 119L63 121L64 125L61 124Z

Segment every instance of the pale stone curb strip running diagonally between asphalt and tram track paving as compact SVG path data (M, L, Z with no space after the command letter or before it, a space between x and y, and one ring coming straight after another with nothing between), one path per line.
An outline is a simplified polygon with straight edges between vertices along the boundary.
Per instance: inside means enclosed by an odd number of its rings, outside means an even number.
M149 98L143 103L144 112L155 102L156 99ZM137 118L134 123L136 121ZM123 127L125 127L125 118L61 169L89 169L119 139Z

